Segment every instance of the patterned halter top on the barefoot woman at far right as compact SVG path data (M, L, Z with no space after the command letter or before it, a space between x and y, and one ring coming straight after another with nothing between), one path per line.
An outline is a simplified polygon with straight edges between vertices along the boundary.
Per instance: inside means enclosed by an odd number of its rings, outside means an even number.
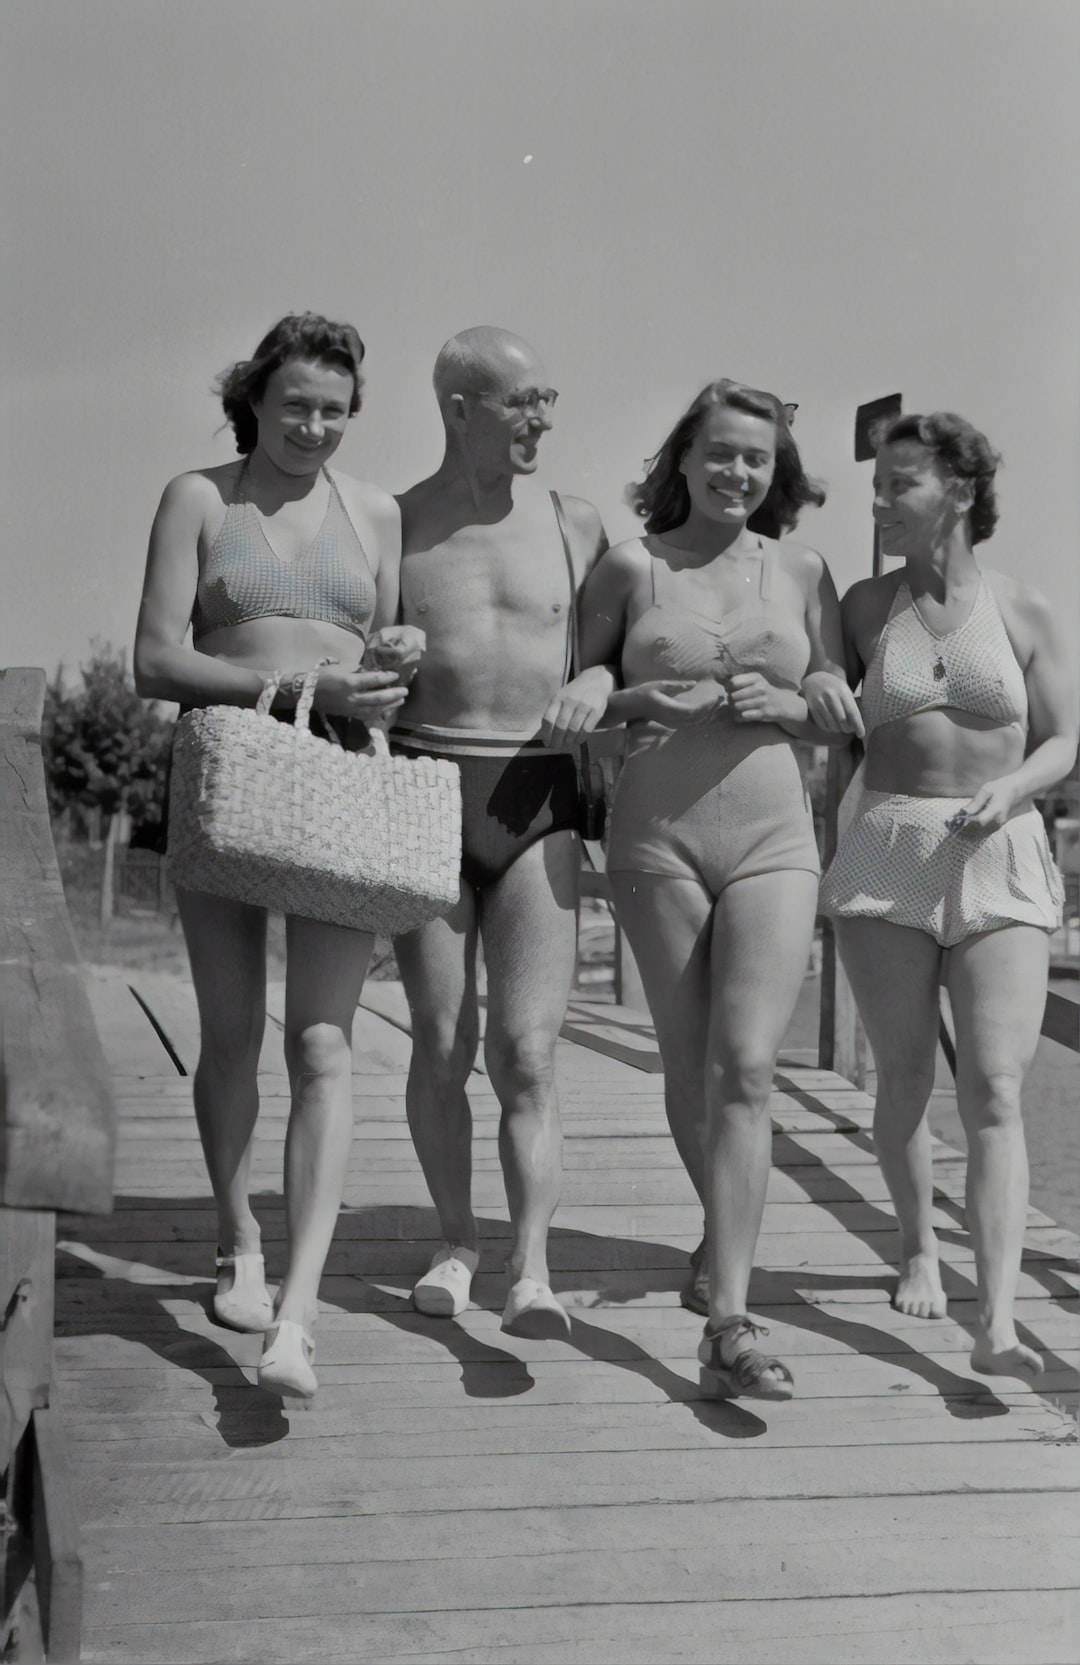
M969 616L944 636L930 629L902 581L862 679L867 733L944 708L1027 728L1023 671L985 578Z

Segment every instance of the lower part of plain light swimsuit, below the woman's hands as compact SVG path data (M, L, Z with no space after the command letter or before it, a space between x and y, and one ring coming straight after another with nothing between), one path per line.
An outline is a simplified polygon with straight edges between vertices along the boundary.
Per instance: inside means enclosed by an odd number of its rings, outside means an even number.
M814 814L790 741L749 724L646 736L619 774L607 871L696 879L712 896L762 872L817 874Z

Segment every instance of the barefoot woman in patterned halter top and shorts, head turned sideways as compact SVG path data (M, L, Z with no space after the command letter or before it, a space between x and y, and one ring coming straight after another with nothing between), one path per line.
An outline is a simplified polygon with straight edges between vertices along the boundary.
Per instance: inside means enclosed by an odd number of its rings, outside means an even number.
M997 523L997 465L982 433L940 411L897 418L879 448L874 519L904 569L844 598L867 754L840 811L822 909L877 1066L874 1136L900 1230L894 1305L945 1315L925 1121L944 982L969 1142L972 1367L1033 1379L1042 1359L1013 1322L1027 1214L1020 1094L1062 881L1032 799L1077 754L1077 693L1045 598L975 561ZM805 694L829 726L830 678L810 678Z

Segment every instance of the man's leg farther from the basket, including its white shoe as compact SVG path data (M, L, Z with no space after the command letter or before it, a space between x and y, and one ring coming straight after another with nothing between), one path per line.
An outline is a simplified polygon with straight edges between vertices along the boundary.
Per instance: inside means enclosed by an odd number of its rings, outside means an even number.
M579 866L577 836L552 832L481 892L484 1057L503 1111L499 1156L514 1227L508 1274L518 1294L504 1324L519 1334L569 1334L547 1289L547 1227L562 1180L554 1049L574 981ZM531 1300L533 1284L542 1292L536 1317L519 1324L511 1309Z

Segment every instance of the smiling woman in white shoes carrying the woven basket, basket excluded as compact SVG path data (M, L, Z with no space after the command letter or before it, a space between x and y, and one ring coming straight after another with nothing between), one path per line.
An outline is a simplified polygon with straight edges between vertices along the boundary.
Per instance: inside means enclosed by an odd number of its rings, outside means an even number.
M221 378L241 461L165 488L135 639L146 698L255 706L270 674L285 673L273 714L291 718L305 673L320 664L313 729L328 721L346 743L351 719L389 718L404 699L403 666L359 669L373 629L396 616L398 506L328 471L359 410L363 351L349 325L303 313ZM288 1265L271 1302L248 1199L266 911L183 889L176 906L200 1011L195 1114L218 1210L213 1312L231 1329L266 1332L261 1387L310 1397L318 1285L353 1131L351 1024L373 939L286 919Z

